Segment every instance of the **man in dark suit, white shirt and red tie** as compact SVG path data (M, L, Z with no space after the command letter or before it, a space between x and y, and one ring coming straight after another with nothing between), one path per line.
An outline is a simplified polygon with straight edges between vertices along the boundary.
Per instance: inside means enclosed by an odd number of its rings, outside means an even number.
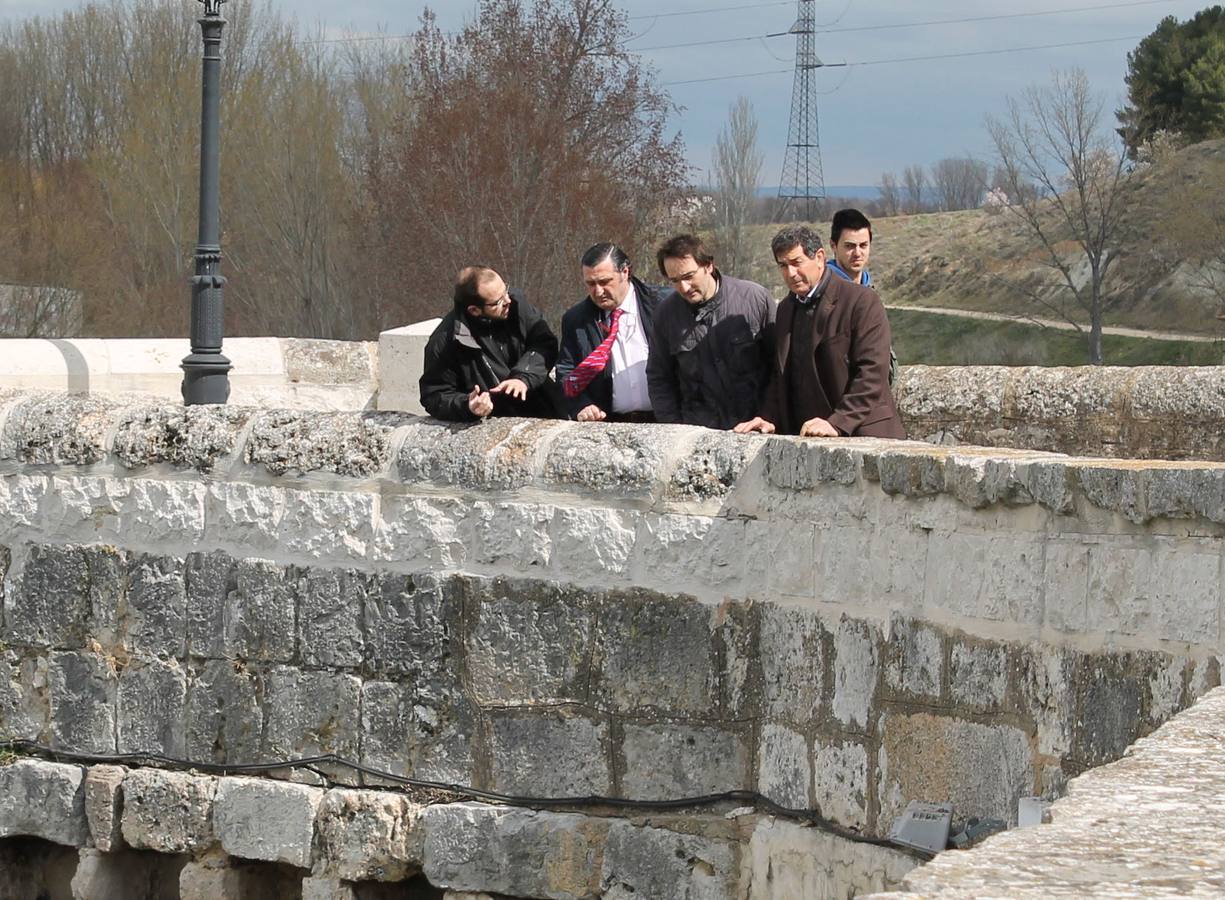
M630 271L616 244L597 244L581 260L587 296L561 317L557 383L581 422L653 422L647 355L664 289Z

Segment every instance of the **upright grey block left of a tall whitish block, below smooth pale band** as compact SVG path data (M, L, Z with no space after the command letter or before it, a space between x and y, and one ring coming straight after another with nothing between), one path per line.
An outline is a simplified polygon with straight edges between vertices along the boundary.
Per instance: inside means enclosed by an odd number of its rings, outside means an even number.
M824 628L811 610L761 607L757 654L762 667L762 713L772 721L805 726L821 715L824 698Z

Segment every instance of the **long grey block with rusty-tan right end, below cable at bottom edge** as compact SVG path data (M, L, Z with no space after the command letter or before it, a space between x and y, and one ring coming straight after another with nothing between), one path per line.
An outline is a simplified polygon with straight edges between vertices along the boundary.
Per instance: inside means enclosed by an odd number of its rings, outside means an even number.
M445 890L551 900L598 896L608 823L484 803L431 806L425 811L423 871Z

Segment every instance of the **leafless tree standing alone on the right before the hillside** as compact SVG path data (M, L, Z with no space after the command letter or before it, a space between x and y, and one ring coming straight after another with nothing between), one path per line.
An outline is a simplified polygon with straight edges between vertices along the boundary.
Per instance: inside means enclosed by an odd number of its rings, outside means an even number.
M1034 86L1008 99L1008 115L987 118L1008 209L1041 245L1058 276L1054 298L1027 294L1084 334L1089 361L1100 365L1105 279L1118 258L1115 247L1122 220L1127 176L1126 151L1117 133L1102 127L1104 99L1079 69L1056 71L1051 84ZM1030 185L1036 185L1039 193ZM1077 252L1067 251L1067 242ZM1082 264L1088 273L1079 271ZM1074 316L1079 307L1088 328Z

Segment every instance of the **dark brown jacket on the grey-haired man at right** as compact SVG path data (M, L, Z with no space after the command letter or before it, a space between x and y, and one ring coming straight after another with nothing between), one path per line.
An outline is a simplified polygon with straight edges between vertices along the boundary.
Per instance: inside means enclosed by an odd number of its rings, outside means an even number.
M889 320L875 290L824 276L824 294L811 317L812 343L821 396L817 415L844 435L905 437L889 391ZM778 307L777 354L762 418L782 435L797 435L788 397L786 365L799 301L788 294Z

